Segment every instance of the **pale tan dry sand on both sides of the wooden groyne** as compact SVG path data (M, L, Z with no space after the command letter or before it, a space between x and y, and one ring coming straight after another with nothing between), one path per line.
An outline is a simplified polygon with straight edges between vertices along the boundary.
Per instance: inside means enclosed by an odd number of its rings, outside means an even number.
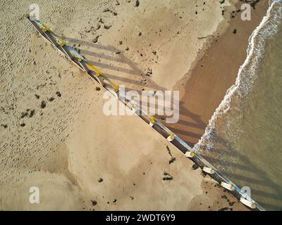
M40 19L128 89L171 89L227 24L228 1L67 2L37 1ZM1 210L246 210L173 146L169 164L168 142L139 117L106 117L104 89L23 18L30 3L1 2Z

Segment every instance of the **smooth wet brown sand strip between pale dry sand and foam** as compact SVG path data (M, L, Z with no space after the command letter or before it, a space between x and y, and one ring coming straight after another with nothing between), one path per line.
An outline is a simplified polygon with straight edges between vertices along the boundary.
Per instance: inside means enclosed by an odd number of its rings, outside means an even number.
M240 2L236 4L237 10L240 5ZM226 31L212 41L195 66L173 86L180 90L180 119L176 124L166 125L191 147L204 134L226 91L235 84L240 65L247 56L248 39L266 15L267 8L268 1L259 2L255 10L252 9L251 21L242 21L240 13L235 13ZM236 34L233 34L235 29Z

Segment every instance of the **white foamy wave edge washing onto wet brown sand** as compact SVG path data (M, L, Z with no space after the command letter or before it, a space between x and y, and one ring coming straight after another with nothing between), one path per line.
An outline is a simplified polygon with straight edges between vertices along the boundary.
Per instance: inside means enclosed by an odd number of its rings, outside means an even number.
M252 84L259 70L259 62L263 60L265 41L278 31L278 25L281 23L281 21L277 19L282 18L282 1L269 1L269 5L269 9L262 22L255 31L252 32L249 38L247 58L243 65L240 66L235 84L226 91L223 101L221 101L211 120L209 120L204 135L194 146L194 150L197 152L201 152L202 149L210 150L214 148L212 141L215 138L215 134L217 134L216 125L219 118L231 111L231 102L235 95L238 95L240 100L244 101L244 98L247 96L250 89L252 89ZM274 11L276 6L278 9ZM234 120L236 120L236 118Z

